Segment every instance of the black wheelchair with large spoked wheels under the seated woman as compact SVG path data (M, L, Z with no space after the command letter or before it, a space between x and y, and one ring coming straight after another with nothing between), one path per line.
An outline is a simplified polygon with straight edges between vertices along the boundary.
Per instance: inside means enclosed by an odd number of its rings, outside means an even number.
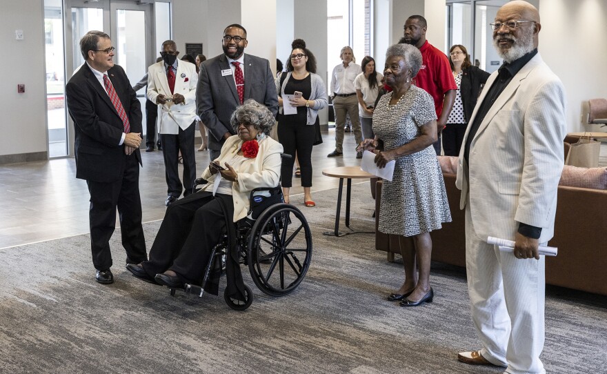
M194 187L203 183L206 181L196 179ZM239 262L248 266L251 278L261 292L275 297L288 295L301 284L310 267L310 226L298 208L284 202L280 186L255 188L249 199L247 217L235 223ZM175 296L175 291L179 290L203 297L212 271L225 272L228 250L228 234L224 233L212 248L201 286L184 284L183 288L169 288L170 295ZM230 297L226 288L223 299L230 308L244 311L252 304L252 290L246 284L244 288L245 301Z

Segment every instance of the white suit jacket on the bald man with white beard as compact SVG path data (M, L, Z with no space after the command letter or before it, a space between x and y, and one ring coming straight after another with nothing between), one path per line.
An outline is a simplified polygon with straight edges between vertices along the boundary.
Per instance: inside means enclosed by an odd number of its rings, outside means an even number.
M497 71L489 77L470 124L495 79ZM469 164L464 147L459 152L459 205L464 209L470 198L479 237L514 240L519 222L541 227L540 243L553 237L565 120L564 87L537 53L487 112L470 144Z

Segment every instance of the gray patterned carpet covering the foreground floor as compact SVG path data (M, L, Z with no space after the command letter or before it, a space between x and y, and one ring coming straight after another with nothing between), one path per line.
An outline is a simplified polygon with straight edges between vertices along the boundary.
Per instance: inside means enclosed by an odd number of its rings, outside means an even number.
M372 230L368 184L353 192L352 227ZM301 206L315 253L294 293L269 297L243 269L255 293L246 312L135 279L119 266L118 230L110 286L94 282L88 235L0 250L0 373L501 373L457 362L478 348L463 270L433 264L432 304L384 301L401 264L373 235L322 235L336 197ZM144 225L148 248L158 227ZM607 298L548 288L546 326L549 373L607 372Z

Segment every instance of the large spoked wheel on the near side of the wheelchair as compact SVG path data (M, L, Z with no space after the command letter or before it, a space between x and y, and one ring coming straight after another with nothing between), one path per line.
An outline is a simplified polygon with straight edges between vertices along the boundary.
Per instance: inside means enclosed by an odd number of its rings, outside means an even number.
M291 293L312 259L312 233L295 206L275 204L257 217L247 246L253 282L270 296Z

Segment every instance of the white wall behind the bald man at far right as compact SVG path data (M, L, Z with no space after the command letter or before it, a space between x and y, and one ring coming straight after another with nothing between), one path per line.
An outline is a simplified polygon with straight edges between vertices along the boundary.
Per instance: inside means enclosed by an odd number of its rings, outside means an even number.
M539 15L538 50L565 86L567 130L599 130L580 117L588 99L607 97L605 0L541 0Z

